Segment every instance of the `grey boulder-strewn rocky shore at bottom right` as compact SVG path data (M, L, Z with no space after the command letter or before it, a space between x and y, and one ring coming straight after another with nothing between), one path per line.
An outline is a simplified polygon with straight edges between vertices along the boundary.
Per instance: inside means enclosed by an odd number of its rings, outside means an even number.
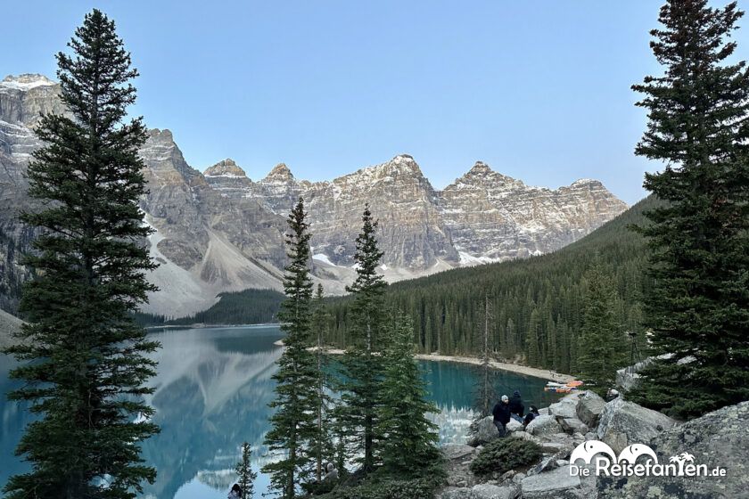
M591 391L570 394L541 409L526 429L510 421L509 436L537 443L543 453L539 462L522 470L477 477L471 462L482 446L498 438L488 417L479 422L470 445L443 447L448 461L448 485L439 499L558 499L558 498L734 498L747 497L749 490L749 402L724 407L703 417L679 424L662 413L624 398L606 403ZM645 444L658 462L669 463L679 453L690 454L694 463L726 469L724 477L605 477L597 476L592 464L576 460L572 451L597 440L617 456L628 446ZM630 447L631 450L632 447ZM626 454L627 451L625 451ZM643 458L640 457L640 460ZM638 462L642 462L639 461ZM671 457L671 462L673 457ZM588 476L571 472L571 465L587 468Z

